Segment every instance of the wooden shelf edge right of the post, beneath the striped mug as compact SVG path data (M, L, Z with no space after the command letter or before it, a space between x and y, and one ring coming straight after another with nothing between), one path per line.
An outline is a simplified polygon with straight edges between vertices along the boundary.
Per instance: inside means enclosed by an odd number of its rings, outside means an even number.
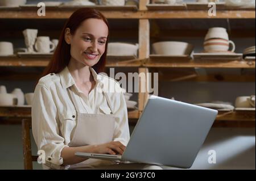
M255 61L230 60L150 60L143 66L156 68L255 68Z

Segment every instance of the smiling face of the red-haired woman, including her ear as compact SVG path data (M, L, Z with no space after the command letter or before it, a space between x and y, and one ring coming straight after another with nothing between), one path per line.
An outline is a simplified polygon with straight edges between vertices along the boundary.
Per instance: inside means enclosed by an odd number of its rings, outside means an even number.
M87 66L97 64L105 52L108 32L106 23L94 18L84 20L73 35L67 28L65 40L71 45L71 58Z

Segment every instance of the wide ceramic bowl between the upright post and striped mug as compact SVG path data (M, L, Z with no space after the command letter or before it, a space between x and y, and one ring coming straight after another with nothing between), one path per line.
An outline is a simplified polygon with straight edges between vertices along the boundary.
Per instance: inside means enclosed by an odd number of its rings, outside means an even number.
M170 56L189 55L193 50L193 45L182 41L160 41L152 44L155 54Z

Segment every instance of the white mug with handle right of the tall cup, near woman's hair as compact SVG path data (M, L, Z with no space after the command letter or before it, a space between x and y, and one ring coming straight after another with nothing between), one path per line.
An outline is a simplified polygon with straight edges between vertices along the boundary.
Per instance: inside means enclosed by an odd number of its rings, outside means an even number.
M35 49L40 53L50 53L55 49L55 45L49 40L49 36L38 36L36 38Z

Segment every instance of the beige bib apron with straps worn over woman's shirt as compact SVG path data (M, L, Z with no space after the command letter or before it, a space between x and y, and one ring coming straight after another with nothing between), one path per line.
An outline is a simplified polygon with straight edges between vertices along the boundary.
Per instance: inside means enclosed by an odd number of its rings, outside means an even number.
M77 112L77 125L72 140L71 142L69 142L68 146L76 147L85 145L96 145L105 144L106 142L113 141L115 117L112 115L113 109L110 104L109 96L106 94L106 92L104 92L102 86L102 93L104 94L108 106L111 110L109 115L80 113L79 107L77 106L75 98L73 97L73 93L70 89L68 89ZM69 169L88 169L99 166L113 165L114 163L115 162L113 161L104 161L100 159L90 158L84 162L71 165Z

